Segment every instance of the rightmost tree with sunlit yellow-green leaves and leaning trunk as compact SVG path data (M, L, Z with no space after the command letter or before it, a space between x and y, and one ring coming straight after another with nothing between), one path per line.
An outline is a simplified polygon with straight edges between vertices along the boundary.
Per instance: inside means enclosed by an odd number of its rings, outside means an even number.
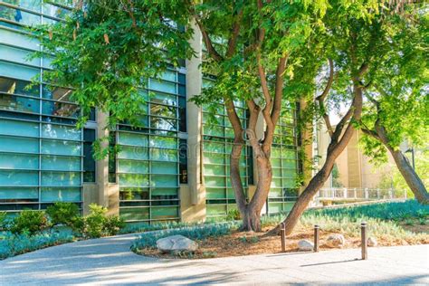
M395 31L391 37L397 48L384 54L386 60L371 78L360 128L367 135L363 138L366 155L386 160L387 149L415 198L429 204L423 181L400 149L404 140L414 148L427 148L428 15L409 6L404 16L404 21L398 21L399 16L392 19Z

